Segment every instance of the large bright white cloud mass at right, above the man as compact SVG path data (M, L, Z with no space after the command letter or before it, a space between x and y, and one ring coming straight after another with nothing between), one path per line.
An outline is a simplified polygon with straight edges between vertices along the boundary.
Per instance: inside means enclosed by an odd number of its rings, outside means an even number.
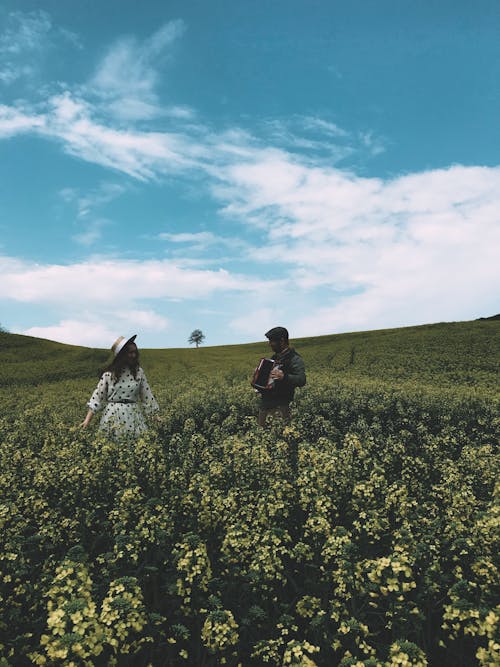
M295 318L302 335L498 310L499 168L384 182L275 156L233 167L231 177L232 213L268 229L255 261L288 265L298 290L321 290L312 312Z

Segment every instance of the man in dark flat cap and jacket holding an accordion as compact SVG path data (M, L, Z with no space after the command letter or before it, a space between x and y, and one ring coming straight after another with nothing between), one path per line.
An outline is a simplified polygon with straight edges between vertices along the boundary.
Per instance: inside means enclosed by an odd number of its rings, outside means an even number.
M285 421L289 421L290 402L293 400L295 387L303 387L306 383L304 361L300 354L290 348L288 331L284 327L274 327L265 336L273 351L271 358L277 362L277 366L269 376L274 380L273 388L261 392L259 426L265 426L270 415L279 414Z

